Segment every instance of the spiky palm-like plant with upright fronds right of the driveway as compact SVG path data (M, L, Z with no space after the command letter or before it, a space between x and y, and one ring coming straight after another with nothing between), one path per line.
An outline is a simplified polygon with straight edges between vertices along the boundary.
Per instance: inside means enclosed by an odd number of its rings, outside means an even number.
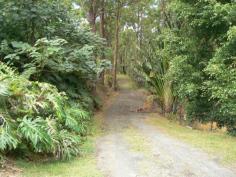
M170 113L173 110L174 96L171 81L166 78L169 58L161 53L155 43L150 43L142 54L145 60L140 66L145 80L157 96L163 112Z

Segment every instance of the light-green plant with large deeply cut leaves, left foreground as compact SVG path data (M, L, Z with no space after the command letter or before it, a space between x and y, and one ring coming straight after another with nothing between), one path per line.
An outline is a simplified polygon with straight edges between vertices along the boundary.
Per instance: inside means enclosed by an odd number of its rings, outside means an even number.
M79 153L89 113L55 86L33 82L0 63L0 151L70 158Z

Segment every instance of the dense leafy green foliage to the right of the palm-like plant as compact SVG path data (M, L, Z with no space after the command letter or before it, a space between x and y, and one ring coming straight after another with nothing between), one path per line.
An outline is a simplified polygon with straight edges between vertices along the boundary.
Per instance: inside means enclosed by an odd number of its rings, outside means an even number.
M176 95L185 105L189 120L215 121L231 133L236 125L231 73L235 56L235 8L231 1L170 3L177 22L182 23L172 29L181 49L174 50L176 55L170 61L170 79Z

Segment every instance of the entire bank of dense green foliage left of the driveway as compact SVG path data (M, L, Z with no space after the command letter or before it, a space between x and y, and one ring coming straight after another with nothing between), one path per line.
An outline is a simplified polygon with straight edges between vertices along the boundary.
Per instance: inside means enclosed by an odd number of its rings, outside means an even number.
M110 62L70 0L0 0L0 153L79 153Z

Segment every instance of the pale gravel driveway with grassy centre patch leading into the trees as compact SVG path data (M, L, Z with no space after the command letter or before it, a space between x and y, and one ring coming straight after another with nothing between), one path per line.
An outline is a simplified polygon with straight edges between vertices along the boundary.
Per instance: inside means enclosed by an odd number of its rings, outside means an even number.
M136 110L144 94L122 85L105 112L106 133L97 141L98 167L106 177L236 177L199 149L145 123Z

